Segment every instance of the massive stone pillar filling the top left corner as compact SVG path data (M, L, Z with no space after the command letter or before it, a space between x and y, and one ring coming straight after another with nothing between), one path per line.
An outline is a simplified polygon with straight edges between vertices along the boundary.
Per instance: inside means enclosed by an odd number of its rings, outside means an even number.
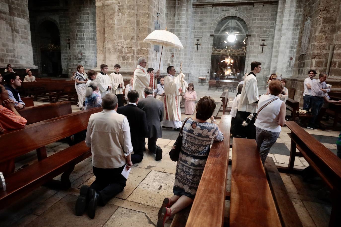
M37 68L33 64L27 0L0 1L0 67Z

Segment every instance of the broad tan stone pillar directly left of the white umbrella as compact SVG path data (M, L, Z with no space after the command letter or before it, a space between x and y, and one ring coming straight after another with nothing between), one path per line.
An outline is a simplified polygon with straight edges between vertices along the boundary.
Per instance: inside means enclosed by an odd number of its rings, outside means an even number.
M155 21L164 29L165 0L96 0L97 68L107 64L109 72L121 65L122 75L132 76L137 60L144 57L147 67L159 66L160 52L143 40L154 30ZM157 17L157 12L160 15ZM160 46L161 51L161 46Z

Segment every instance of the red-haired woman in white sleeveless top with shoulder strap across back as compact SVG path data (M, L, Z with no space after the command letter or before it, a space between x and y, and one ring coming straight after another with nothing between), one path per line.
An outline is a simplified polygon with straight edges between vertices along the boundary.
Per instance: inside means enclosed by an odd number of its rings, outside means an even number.
M257 104L257 118L255 120L256 142L263 165L270 148L275 144L281 132L281 126L284 126L285 124L285 103L279 99L279 95L283 90L281 81L271 81L269 90L269 95L262 95L259 98ZM275 100L258 113L265 104L273 99Z

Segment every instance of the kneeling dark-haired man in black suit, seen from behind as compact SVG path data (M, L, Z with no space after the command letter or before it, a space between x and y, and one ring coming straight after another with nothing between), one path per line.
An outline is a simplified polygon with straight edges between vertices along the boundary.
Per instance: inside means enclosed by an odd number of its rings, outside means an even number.
M131 144L134 151L131 155L133 164L141 162L143 159L143 151L146 149L145 137L148 131L146 113L137 107L138 96L136 90L131 90L128 92L128 105L117 109L117 113L127 116L129 122Z

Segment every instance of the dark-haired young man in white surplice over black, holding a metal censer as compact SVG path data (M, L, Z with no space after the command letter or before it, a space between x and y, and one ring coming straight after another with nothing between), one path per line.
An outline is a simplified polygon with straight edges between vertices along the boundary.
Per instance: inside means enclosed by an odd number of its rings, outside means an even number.
M239 135L244 138L247 137L248 139L256 139L256 128L254 126L256 115L254 115L248 126L242 126L242 122L246 120L251 113L256 112L257 102L259 100L256 74L261 72L261 65L262 63L260 62L251 62L251 72L244 80L244 85L240 94L233 136Z

